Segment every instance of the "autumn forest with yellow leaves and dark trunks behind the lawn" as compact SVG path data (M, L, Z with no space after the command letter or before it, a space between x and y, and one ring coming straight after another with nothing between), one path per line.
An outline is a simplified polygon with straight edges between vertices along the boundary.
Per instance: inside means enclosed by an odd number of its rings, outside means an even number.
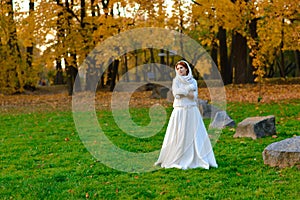
M292 0L2 0L0 93L63 84L71 95L79 66L96 45L141 27L175 30L198 41L225 85L299 77L299 9ZM162 53L171 50L128 52L105 72L101 65L87 69L86 78L89 70L101 73L99 88L112 91L131 68L174 64L174 57Z

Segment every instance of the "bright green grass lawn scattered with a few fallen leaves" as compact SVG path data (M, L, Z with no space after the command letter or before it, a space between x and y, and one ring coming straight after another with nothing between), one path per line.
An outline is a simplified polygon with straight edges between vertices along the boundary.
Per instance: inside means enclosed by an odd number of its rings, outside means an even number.
M262 151L300 135L299 104L229 103L227 111L237 123L250 116L275 115L278 137L235 139L235 130L226 128L214 146L219 168L145 173L121 172L97 161L82 144L71 112L0 114L0 199L298 199L299 169L266 166ZM136 123L149 123L148 109L134 108L131 114ZM137 139L123 134L110 112L97 115L120 148L160 148L166 127L151 138Z

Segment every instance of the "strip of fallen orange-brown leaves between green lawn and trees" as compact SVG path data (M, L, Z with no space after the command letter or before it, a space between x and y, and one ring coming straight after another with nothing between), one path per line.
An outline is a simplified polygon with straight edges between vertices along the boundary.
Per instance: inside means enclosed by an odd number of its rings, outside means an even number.
M270 103L283 100L300 99L300 84L258 84L228 85L225 87L227 102ZM118 98L122 98L122 92ZM110 109L112 92L99 91L95 95L96 109ZM166 99L150 98L151 91L132 94L130 107L150 107L155 104L171 106ZM199 98L210 101L207 88L199 89ZM125 102L126 103L126 102ZM19 95L0 94L0 112L43 112L71 111L72 97L65 86L40 87L34 92L26 91Z

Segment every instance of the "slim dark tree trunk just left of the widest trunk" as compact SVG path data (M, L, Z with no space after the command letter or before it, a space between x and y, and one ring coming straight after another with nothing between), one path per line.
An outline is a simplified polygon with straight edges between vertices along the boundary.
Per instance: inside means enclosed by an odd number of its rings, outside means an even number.
M228 64L227 40L226 29L219 27L219 52L220 52L220 71L224 85L232 83L232 68Z

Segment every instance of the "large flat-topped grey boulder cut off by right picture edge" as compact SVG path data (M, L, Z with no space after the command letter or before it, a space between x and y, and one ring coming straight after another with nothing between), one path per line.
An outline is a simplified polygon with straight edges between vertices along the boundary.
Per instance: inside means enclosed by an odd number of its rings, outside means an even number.
M262 153L264 163L280 168L300 168L300 136L288 138L267 146Z

